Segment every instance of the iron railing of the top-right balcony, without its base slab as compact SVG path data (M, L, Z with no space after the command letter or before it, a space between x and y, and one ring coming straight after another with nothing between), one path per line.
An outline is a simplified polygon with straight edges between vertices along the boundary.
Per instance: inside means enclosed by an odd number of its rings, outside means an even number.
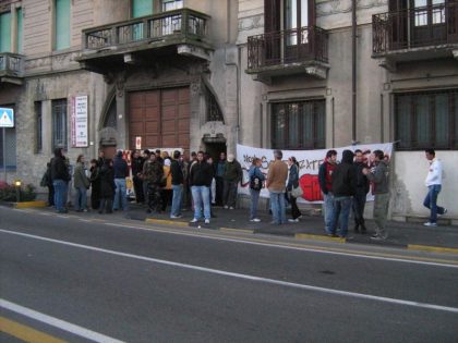
M458 42L458 3L436 4L372 16L375 54Z

